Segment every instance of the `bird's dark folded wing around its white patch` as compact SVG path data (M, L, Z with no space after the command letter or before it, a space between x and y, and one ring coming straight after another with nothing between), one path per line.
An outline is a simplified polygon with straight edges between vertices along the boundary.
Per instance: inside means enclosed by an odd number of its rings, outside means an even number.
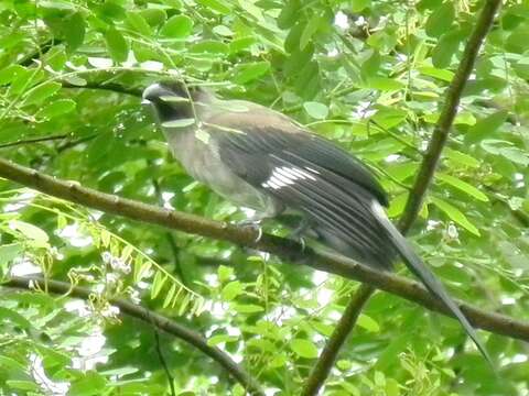
M245 131L242 125L236 128ZM348 153L306 132L255 125L245 133L215 132L214 136L223 163L247 183L305 213L321 242L380 270L391 267L391 243L370 210L374 199L386 204L386 195ZM264 188L278 168L299 169L310 177Z

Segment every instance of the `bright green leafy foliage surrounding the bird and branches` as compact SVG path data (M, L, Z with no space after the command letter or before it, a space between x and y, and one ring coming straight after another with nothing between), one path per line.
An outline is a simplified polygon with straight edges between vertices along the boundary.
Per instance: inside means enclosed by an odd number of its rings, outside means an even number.
M283 111L350 150L378 174L398 218L482 6L4 0L0 155L122 197L240 219L185 175L140 106L150 82L186 78ZM500 12L411 238L454 296L526 319L529 3L507 1ZM4 394L161 395L168 367L177 394L244 394L198 351L118 320L107 298L119 295L204 333L271 394L295 395L358 286L7 180L0 201L3 276L33 270L98 290L78 302L1 289ZM378 293L325 394L527 395L527 345L482 336L498 377L455 321Z

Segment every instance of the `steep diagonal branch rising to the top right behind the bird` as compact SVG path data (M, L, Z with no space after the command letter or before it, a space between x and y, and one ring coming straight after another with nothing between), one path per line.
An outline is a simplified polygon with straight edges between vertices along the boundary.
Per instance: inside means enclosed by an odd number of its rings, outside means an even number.
M438 166L441 153L446 144L450 128L457 113L461 95L465 88L466 81L471 75L477 58L479 48L494 22L494 16L500 4L500 0L487 0L485 3L476 26L466 43L460 67L457 68L452 82L446 92L446 100L439 117L438 123L433 130L432 138L428 145L427 153L423 157L421 167L415 178L415 183L409 194L402 217L399 221L399 229L403 234L408 232L422 206L422 201L428 191L428 187L432 183L435 168ZM309 378L305 383L303 395L316 395L323 386L325 380L331 373L331 369L344 345L347 336L353 331L356 320L369 297L376 292L375 287L361 285L360 288L352 296L349 304L345 308L344 315L339 319L333 334L328 339L322 351L316 364L314 365Z

